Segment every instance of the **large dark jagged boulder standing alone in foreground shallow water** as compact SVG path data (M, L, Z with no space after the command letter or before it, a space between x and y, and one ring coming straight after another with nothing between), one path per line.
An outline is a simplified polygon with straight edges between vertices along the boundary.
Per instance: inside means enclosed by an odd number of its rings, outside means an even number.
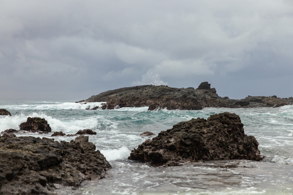
M148 139L130 153L130 160L151 165L180 165L188 161L246 159L260 161L258 142L244 134L240 117L232 113L179 122Z

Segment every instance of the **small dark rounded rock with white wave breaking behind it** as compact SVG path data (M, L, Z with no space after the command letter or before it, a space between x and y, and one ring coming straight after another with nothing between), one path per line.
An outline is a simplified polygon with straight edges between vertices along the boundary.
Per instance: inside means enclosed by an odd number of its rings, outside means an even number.
M30 131L30 132L39 132L39 131L46 131L51 132L51 127L48 124L47 120L44 118L28 117L26 122L23 122L19 125L21 131Z

